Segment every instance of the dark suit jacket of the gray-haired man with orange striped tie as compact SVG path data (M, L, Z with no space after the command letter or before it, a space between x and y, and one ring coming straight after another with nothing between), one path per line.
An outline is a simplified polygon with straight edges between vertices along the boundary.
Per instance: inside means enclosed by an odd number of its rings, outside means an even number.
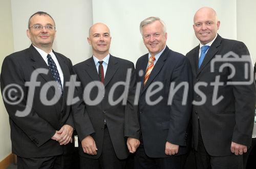
M156 65L154 66L146 85L143 87L143 78L148 63L148 54L140 57L136 64L137 81L141 82L139 99L139 118L143 137L143 146L146 155L150 157L167 157L165 143L180 145L178 155L186 153L187 128L191 113L191 68L184 55L170 50L167 46ZM139 76L140 70L143 75ZM150 97L161 101L155 105L146 103L147 92L156 90L154 82L163 84L163 88ZM172 105L168 105L170 85L175 82L175 87L181 82L186 82L189 88L186 104L182 105L184 88L180 88L174 95ZM150 89L153 87L152 89ZM173 93L173 92L171 92Z

